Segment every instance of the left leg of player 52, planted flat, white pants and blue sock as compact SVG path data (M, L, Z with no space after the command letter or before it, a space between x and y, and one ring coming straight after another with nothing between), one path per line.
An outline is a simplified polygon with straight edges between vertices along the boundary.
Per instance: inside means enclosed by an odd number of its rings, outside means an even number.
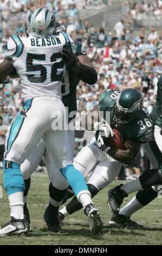
M36 147L43 136L43 130L46 129L46 118L40 119L40 115L44 113L44 108L46 106L42 102L35 103L33 100L31 104L31 101L27 101L25 104L26 111L18 115L7 138L7 150L5 151L3 166L4 187L8 193L11 222L1 227L0 235L2 236L12 233L18 234L27 230L23 220L25 185L20 165ZM41 130L38 127L41 127ZM9 232L8 227L10 227L11 232Z

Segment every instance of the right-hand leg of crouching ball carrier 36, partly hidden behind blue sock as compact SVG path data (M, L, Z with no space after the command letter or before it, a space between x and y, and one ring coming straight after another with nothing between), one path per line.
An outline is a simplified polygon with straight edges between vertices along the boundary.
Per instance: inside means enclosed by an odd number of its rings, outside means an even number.
M87 182L92 197L94 197L102 188L111 183L115 179L115 176L119 175L121 166L122 163L113 159L107 159L107 161L96 164L92 175ZM81 208L82 205L78 202L77 198L74 197L62 210L59 211L60 218L63 220L66 215L73 214Z

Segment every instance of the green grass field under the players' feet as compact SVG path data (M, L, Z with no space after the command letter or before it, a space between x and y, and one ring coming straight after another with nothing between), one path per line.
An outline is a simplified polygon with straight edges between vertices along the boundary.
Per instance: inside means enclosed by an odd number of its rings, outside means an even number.
M125 182L125 181L124 181ZM144 224L142 230L130 230L128 228L115 228L108 224L112 216L107 207L107 191L109 188L119 185L120 181L114 181L94 198L93 202L99 208L104 229L102 234L92 235L83 211L77 211L69 215L63 221L62 231L52 233L47 230L43 220L44 210L48 205L48 176L33 175L28 196L28 208L30 211L32 232L27 235L12 235L0 237L0 245L162 245L162 199L155 199L145 208L132 216L133 221ZM0 172L0 185L3 186L3 173ZM132 193L125 199L123 206L134 196ZM3 198L0 199L0 226L10 220L10 210L7 193L3 189Z

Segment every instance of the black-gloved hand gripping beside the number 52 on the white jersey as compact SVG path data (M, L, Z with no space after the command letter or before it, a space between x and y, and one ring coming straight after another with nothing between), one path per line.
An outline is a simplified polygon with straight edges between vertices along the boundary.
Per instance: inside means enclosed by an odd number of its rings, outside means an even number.
M73 68L73 66L75 66L79 62L79 59L72 51L72 47L63 46L61 56L67 68Z

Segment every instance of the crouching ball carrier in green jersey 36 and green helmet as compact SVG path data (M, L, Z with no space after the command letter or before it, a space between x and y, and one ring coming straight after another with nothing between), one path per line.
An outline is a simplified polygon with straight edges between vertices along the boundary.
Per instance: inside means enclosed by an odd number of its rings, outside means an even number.
M129 88L122 92L105 90L99 99L99 114L106 120L109 113L109 124L94 122L89 114L82 120L86 129L95 129L95 138L84 147L74 159L74 166L86 176L93 170L87 182L88 189L95 196L103 187L112 182L121 169L122 163L129 163L138 153L141 143L150 141L154 125L146 113L142 111L142 96L138 90ZM97 114L98 116L98 114ZM88 121L89 120L89 121ZM90 120L93 123L90 123ZM90 124L90 126L88 126ZM112 136L112 128L119 130L125 141L125 149L113 149L106 144L106 138ZM102 133L101 133L102 132ZM104 137L104 136L105 137ZM124 196L127 194L124 192ZM59 211L60 217L72 214L81 209L76 197Z

